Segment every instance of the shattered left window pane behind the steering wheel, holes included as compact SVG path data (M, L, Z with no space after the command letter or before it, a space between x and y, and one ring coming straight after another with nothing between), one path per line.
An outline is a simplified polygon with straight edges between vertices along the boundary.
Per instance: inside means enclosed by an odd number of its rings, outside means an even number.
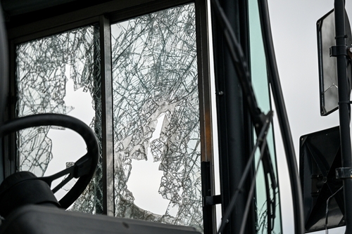
M90 125L101 142L99 29L70 32L19 44L16 49L17 116L71 115ZM82 157L86 145L68 129L40 126L17 136L18 171L48 176ZM70 209L101 213L101 165L94 180ZM56 184L60 179L56 181ZM56 193L60 199L75 181ZM52 188L54 188L53 184Z

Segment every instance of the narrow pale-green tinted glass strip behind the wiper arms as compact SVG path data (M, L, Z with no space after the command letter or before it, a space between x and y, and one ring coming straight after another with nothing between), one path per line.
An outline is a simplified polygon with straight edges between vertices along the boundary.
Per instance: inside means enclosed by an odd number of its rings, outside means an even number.
M258 11L258 2L249 1L249 33L250 33L250 48L251 48L251 79L256 94L256 99L260 109L266 113L271 110L270 105L270 89L268 84L268 73L265 60L265 51L263 46L263 36L260 30L260 19ZM256 140L256 139L255 139ZM274 169L275 177L277 178L277 164L275 155L275 143L272 133L272 127L268 131L266 137L268 149ZM259 150L258 150L259 151ZM260 158L260 152L256 155L256 163ZM281 211L279 200L279 188L272 189L270 183L270 197L265 193L265 174L262 164L258 168L256 176L256 232L268 233L268 201L275 201L275 219L271 221L271 233L282 233ZM272 212L273 213L273 212Z

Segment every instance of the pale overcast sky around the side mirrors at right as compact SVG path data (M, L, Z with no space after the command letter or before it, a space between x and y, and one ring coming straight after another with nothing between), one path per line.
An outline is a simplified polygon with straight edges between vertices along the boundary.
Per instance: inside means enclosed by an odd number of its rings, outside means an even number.
M277 66L298 157L300 136L339 125L337 111L327 117L320 116L316 36L316 22L334 8L334 0L268 0L268 4ZM346 1L346 11L351 21L351 1ZM291 188L277 121L275 124L282 227L283 233L291 234L294 233ZM333 233L344 233L344 228L330 229L329 234Z

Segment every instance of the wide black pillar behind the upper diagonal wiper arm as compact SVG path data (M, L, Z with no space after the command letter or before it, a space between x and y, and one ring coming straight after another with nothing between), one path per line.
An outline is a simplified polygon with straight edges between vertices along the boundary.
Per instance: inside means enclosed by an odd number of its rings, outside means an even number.
M212 1L216 4L215 1ZM227 20L229 20L234 34L239 39L244 53L249 51L247 29L246 1L220 0ZM217 22L216 13L213 13L213 22ZM238 74L232 63L225 36L220 24L212 26L213 53L215 69L215 93L218 115L218 143L220 164L220 190L222 216L231 202L231 197L237 190L241 176L246 167L248 155L253 147L253 135L249 110L246 108L241 91ZM246 53L246 56L248 54ZM252 171L253 172L253 171ZM253 173L250 173L253 175ZM249 195L252 176L247 176L246 182L237 197L237 202L230 218L227 220L222 234L239 233L246 200ZM256 233L255 207L251 207L245 233Z

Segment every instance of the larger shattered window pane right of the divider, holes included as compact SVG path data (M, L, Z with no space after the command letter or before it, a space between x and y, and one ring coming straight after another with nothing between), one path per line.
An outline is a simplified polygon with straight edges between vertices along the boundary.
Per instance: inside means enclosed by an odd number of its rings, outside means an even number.
M202 230L194 4L111 34L115 216Z

